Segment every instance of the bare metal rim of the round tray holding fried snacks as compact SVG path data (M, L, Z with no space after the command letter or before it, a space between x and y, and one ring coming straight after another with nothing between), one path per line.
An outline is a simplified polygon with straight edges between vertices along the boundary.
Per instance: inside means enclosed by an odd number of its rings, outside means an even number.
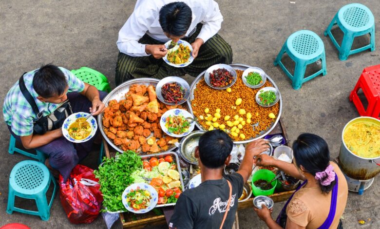
M155 78L136 78L136 79L128 80L127 82L120 84L114 90L112 90L103 99L102 102L104 103L104 105L106 107L108 107L108 102L110 100L116 99L117 101L120 101L121 99L123 99L124 95L129 91L129 87L132 86L133 84L145 84L147 86L149 86L149 85L156 86L159 81L160 81L159 79L155 79ZM187 103L184 103L183 105L185 105L185 104L186 104L187 109L190 110L189 105ZM191 114L192 114L192 112L191 112ZM115 150L117 150L120 153L123 153L124 151L122 149L120 149L119 147L117 147L114 144L114 142L111 139L109 139L107 137L107 135L104 133L102 118L103 118L103 113L97 116L97 123L99 125L100 132L102 133L104 139L106 139L108 144L110 144ZM180 141L180 139L178 139L178 141ZM169 151L174 150L175 148L176 148L176 146L173 144L172 146L170 146L168 148L167 151L163 151L163 152L169 152ZM158 153L163 153L163 152L158 152Z

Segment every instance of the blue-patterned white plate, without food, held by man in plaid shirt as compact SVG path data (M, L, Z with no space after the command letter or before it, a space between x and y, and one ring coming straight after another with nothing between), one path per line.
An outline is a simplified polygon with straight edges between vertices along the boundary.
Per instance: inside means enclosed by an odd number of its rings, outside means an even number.
M87 117L87 115L90 115L90 114L85 113L85 112L78 112L78 113L74 113L74 114L68 116L65 119L65 121L63 122L63 125L62 125L62 134L67 140L74 142L74 143L82 143L82 142L90 140L92 137L95 136L95 133L97 130L97 123L96 123L96 119L94 118L94 116L91 116L91 117L89 117L89 119L86 120L88 123L90 123L91 129L92 129L91 133L90 133L90 135L88 135L88 137L81 139L81 140L77 140L77 139L72 138L69 134L70 125L73 124L76 121L76 119L78 119L80 117Z

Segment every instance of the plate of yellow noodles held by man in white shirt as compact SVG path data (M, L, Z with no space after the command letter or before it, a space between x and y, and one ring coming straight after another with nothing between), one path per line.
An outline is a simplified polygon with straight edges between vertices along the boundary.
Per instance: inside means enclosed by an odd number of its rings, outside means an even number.
M169 47L171 40L165 43L166 47ZM168 50L168 53L163 57L164 61L176 68L183 68L188 66L194 57L191 56L192 47L191 44L185 40L178 40L174 48Z

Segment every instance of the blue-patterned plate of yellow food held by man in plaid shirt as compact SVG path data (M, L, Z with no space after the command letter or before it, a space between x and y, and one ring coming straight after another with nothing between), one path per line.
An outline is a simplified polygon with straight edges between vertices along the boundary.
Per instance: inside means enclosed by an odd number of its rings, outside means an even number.
M68 116L62 125L62 134L71 142L81 143L94 137L97 123L93 116L85 112L78 112Z

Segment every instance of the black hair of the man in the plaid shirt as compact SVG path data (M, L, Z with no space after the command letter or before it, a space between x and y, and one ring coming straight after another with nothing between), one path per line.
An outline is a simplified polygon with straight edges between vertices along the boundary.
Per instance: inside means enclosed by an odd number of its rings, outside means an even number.
M53 64L40 67L33 76L33 88L44 98L62 95L67 86L65 75Z

